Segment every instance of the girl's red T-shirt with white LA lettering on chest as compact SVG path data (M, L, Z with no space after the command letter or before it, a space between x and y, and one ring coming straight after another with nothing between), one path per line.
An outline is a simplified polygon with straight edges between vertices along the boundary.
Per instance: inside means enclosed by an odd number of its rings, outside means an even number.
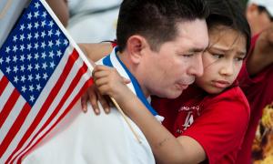
M249 119L248 101L239 87L207 95L191 86L176 99L154 98L152 104L173 135L197 140L209 163L235 163Z

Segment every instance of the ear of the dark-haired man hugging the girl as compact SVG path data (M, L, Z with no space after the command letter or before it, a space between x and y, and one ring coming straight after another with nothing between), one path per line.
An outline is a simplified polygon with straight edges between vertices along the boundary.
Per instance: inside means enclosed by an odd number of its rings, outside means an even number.
M127 52L130 55L131 61L136 64L140 62L148 47L147 40L143 36L130 36L127 40Z

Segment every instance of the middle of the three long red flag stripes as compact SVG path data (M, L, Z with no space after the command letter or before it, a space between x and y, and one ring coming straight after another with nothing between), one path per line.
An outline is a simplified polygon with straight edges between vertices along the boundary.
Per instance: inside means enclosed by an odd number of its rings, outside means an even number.
M35 134L35 137L32 138L32 140L29 142L29 144L25 147L25 149L28 149L28 147L30 147L30 145L32 144L32 142L34 141L34 139L37 137L38 134L41 133L42 130L45 129L46 126L49 125L49 123L53 120L53 118L56 118L57 113L60 111L60 109L64 106L64 104L66 103L67 97L69 97L73 91L73 89L75 89L76 85L78 84L78 81L81 79L81 77L86 73L87 67L86 64L84 64L83 67L81 67L77 74L76 77L73 79L71 85L68 87L68 89L66 90L66 94L62 97L62 99L59 101L59 104L57 105L56 109L53 111L52 115L46 120L45 124L43 125L42 128L40 128L40 130ZM21 152L24 152L25 149L23 149ZM20 154L18 154L20 156ZM15 157L16 159L17 157Z

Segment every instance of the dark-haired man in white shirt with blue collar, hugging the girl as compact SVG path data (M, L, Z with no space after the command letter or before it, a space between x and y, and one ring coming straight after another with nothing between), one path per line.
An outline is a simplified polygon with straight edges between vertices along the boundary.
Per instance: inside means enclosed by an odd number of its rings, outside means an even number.
M178 97L203 74L207 15L203 0L124 0L116 29L119 49L98 64L116 67L129 78L128 87L157 115L147 97ZM132 120L136 137L115 109L96 117L93 109L83 114L80 108L72 109L23 163L155 163Z

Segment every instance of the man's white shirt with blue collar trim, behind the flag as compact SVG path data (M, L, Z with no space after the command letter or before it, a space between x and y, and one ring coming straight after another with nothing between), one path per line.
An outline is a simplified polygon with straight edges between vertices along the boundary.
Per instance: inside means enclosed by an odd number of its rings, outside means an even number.
M110 58L120 75L129 78L116 59L115 50ZM98 63L102 64L102 60ZM136 93L132 84L128 87ZM101 111L100 116L96 116L92 107L88 105L87 113L83 113L78 101L66 118L25 157L22 163L155 163L147 139L131 119L128 118L141 143L136 140L116 108L111 108L109 115L102 109Z

